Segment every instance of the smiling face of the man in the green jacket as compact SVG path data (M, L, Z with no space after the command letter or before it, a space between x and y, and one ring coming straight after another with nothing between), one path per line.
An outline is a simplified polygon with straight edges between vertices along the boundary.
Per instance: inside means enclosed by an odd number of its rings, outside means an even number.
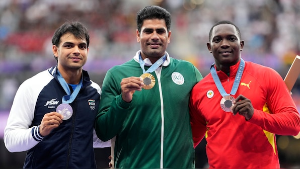
M140 43L142 58L149 58L152 63L155 63L165 55L170 37L171 31L167 31L165 20L144 20L141 31L136 30L136 39Z

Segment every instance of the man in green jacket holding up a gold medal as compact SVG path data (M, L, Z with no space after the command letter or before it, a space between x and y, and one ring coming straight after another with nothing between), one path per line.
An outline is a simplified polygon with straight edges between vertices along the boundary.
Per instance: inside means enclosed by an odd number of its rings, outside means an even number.
M195 167L188 101L202 75L166 52L170 25L165 9L141 9L136 30L141 50L104 78L95 129L103 141L116 136L116 168Z

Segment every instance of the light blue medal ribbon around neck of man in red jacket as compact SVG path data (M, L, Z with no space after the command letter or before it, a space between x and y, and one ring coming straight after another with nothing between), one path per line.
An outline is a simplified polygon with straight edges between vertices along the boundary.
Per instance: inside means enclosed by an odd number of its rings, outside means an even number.
M220 79L219 79L219 77L216 73L216 70L214 68L214 63L211 65L211 67L210 67L211 76L212 76L213 81L216 85L216 88L218 89L218 91L219 91L219 93L221 94L222 97L228 96L228 95L235 95L237 93L238 88L239 88L239 84L240 84L240 81L241 81L241 78L242 78L242 74L243 74L243 71L244 71L244 68L245 68L245 61L241 58L239 69L238 69L238 72L237 72L236 77L235 77L234 85L231 89L230 94L228 94L224 90L224 88L222 86L222 83L221 83L221 81L220 81Z

